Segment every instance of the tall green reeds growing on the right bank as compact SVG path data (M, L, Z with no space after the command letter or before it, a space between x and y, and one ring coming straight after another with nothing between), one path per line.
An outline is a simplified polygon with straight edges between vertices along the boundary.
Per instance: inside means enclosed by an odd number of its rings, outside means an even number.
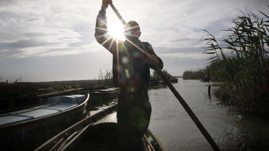
M248 11L242 12L242 16L233 20L234 27L225 30L230 34L221 43L206 31L208 35L201 41L207 42L203 53L211 55L208 59L211 63L191 74L204 76L207 69L212 69L213 77L222 81L218 96L229 99L230 104L243 113L268 116L269 16L260 13L266 20Z

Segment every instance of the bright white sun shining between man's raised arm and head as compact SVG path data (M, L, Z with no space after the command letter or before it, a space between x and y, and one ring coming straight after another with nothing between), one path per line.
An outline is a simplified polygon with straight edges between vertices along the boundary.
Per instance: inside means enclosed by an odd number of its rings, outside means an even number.
M121 23L111 23L107 25L108 28L108 34L110 34L113 38L116 38L118 40L125 40L125 37L123 35L124 26Z

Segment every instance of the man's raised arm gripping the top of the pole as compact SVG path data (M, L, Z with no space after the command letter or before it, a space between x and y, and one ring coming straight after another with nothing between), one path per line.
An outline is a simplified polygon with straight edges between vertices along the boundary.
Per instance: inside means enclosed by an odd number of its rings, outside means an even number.
M95 38L96 41L105 47L105 49L109 50L112 53L113 47L115 47L116 41L113 41L113 38L111 35L108 34L107 31L107 21L106 21L106 9L109 5L109 3L112 3L111 0L103 0L101 10L98 13L97 19L96 19L96 26L95 26ZM112 42L113 41L113 42Z

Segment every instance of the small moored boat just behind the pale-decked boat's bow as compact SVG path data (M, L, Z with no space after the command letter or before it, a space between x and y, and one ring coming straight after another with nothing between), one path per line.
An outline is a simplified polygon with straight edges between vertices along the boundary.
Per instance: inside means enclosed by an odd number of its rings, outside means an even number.
M90 101L88 105L93 105L98 102L107 101L118 98L119 88L106 88L88 92L90 94Z

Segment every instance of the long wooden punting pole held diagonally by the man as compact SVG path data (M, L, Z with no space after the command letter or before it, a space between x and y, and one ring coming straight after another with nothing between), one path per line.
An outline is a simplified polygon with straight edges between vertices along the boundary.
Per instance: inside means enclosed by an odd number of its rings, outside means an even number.
M116 15L119 17L120 21L123 23L123 25L126 24L125 20L122 18L122 16L120 15L120 13L118 12L118 10L115 8L115 6L110 3L109 4L111 6L111 8L113 9L113 11L116 13ZM140 42L141 43L141 42ZM142 43L141 43L142 45ZM142 45L142 49L147 52L146 48ZM186 110L186 112L190 115L191 119L193 120L193 122L196 124L196 126L199 128L199 130L201 131L201 133L204 135L205 139L208 141L208 143L211 145L211 147L215 150L215 151L220 151L219 147L217 146L217 144L214 142L214 140L212 139L212 137L209 135L209 133L206 131L205 127L203 126L203 124L199 121L199 119L196 117L196 115L193 113L193 111L190 109L190 107L188 106L188 104L185 102L185 100L181 97L181 95L179 94L179 92L177 92L177 90L174 88L174 86L171 84L171 82L169 81L169 79L165 76L165 74L163 73L163 71L160 69L160 67L158 66L158 64L156 64L155 70L158 72L158 74L160 75L160 77L163 79L163 81L166 83L166 85L168 86L168 88L172 91L172 93L175 95L175 97L179 100L179 102L181 103L181 105L183 106L183 108Z

